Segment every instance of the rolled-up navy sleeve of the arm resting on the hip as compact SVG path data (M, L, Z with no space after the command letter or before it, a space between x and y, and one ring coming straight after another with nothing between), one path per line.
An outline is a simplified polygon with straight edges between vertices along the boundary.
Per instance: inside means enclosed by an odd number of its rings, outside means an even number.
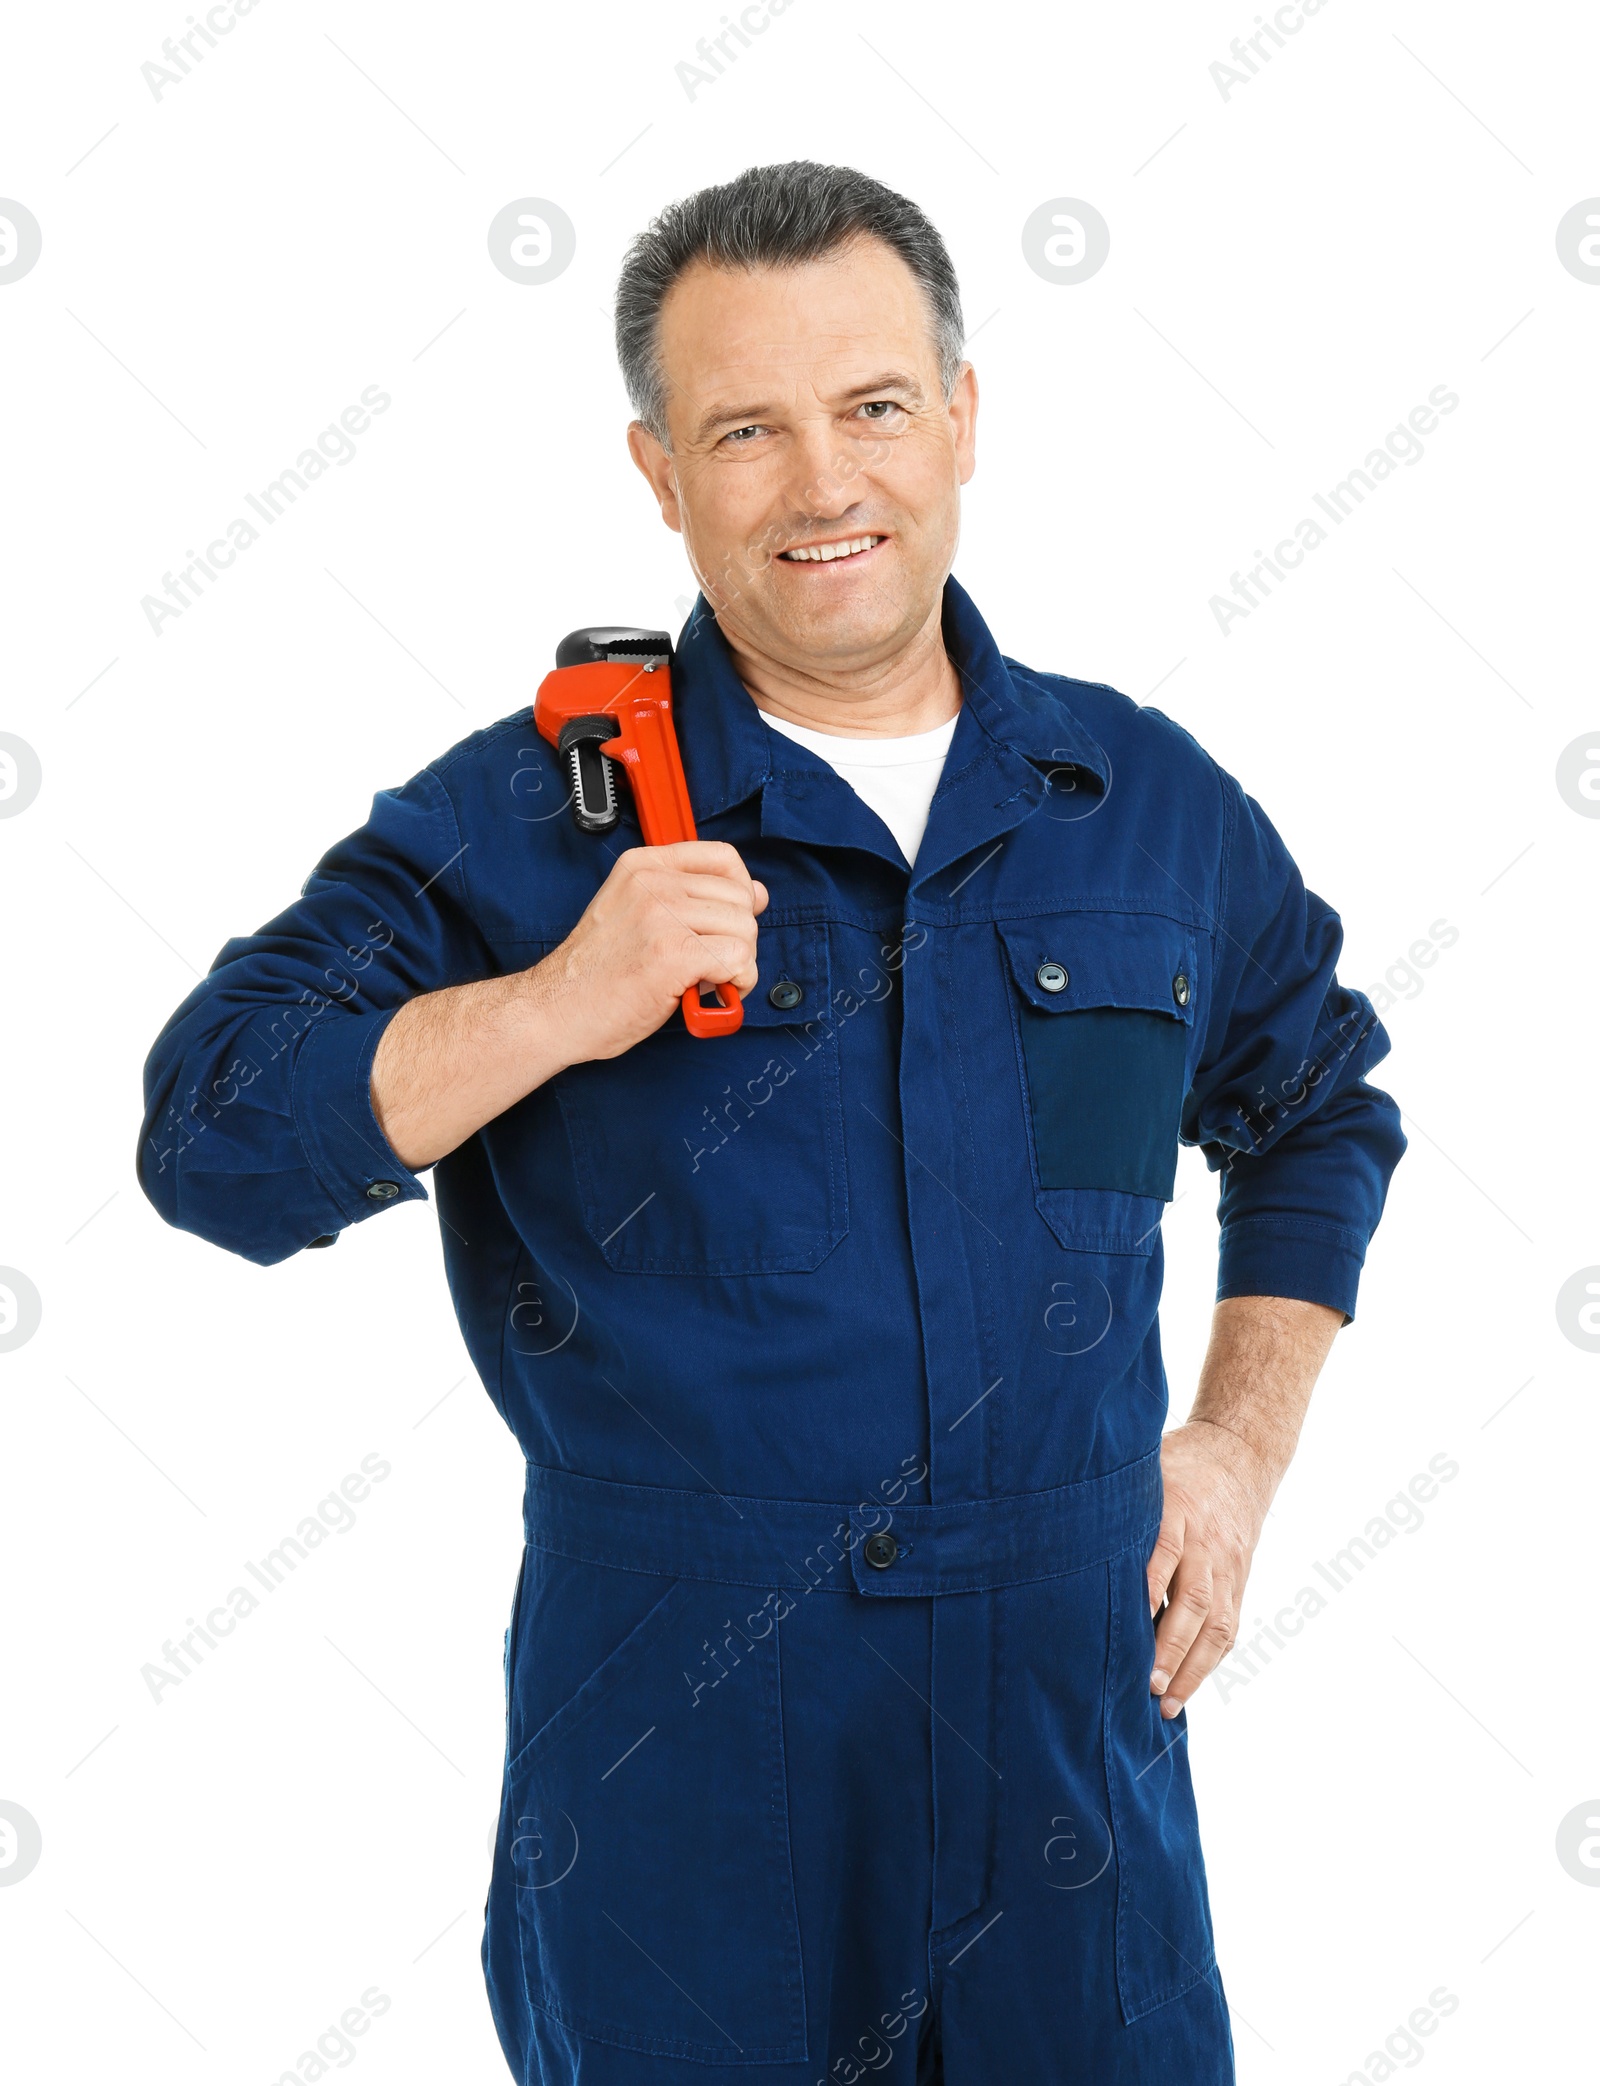
M1406 1149L1366 1072L1389 1051L1339 985L1337 914L1260 805L1222 774L1214 989L1183 1141L1222 1174L1216 1295L1279 1295L1354 1318L1366 1245Z

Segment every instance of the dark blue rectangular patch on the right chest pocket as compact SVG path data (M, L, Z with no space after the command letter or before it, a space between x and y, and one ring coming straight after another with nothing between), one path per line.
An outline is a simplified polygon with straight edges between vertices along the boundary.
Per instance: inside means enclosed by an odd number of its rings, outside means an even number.
M1172 1199L1187 1028L1166 1014L1020 1005L1039 1187Z

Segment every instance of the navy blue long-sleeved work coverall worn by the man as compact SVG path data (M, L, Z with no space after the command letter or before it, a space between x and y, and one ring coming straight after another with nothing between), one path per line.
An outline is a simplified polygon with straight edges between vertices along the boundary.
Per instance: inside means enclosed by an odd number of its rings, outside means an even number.
M1185 730L1003 659L953 580L943 622L964 705L907 872L697 601L695 816L772 893L745 1026L674 1016L434 1168L528 1458L484 1932L524 2086L1233 2078L1149 1694L1162 1204L1197 1143L1218 1297L1354 1314L1387 1037ZM380 793L161 1033L161 1214L271 1266L423 1197L384 1024L555 949L630 820L576 830L526 707Z

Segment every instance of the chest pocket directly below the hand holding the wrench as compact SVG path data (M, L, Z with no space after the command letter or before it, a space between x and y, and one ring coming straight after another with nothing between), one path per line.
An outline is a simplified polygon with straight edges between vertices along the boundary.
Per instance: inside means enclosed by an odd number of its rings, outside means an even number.
M622 1272L803 1272L849 1231L828 928L761 926L755 960L736 1035L674 1014L553 1081L584 1227Z

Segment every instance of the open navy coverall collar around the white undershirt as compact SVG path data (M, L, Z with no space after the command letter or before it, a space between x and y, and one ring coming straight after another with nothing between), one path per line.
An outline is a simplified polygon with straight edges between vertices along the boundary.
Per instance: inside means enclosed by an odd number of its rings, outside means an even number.
M943 634L962 678L962 713L914 882L1010 832L1060 786L1064 770L1072 770L1074 784L1110 784L1104 749L1056 690L1012 674L953 578L945 580ZM859 847L905 868L887 826L855 791L807 747L768 728L703 595L678 638L674 707L697 822L759 793L763 832Z

